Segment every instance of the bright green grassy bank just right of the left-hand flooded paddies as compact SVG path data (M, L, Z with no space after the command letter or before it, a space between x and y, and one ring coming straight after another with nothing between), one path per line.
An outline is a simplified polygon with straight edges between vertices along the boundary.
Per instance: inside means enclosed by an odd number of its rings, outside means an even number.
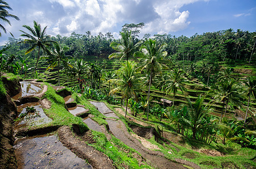
M44 109L44 112L48 117L53 119L53 124L59 126L72 126L72 124L78 124L80 132L88 131L89 128L82 121L82 118L75 117L65 109L65 101L63 97L56 94L53 87L46 83L48 90L44 97L51 103L50 109Z

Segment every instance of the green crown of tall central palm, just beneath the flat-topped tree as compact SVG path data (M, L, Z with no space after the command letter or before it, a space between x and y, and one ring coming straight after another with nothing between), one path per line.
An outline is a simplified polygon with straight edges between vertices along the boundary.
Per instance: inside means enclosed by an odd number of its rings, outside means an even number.
M137 61L134 54L142 42L138 42L134 45L134 41L133 41L133 37L131 36L131 32L129 32L127 30L120 32L120 35L122 37L121 43L118 43L118 42L110 43L110 47L112 47L114 50L116 50L118 52L109 55L109 59L120 58L120 60L126 59L126 61L127 61L129 58L133 58L134 60Z

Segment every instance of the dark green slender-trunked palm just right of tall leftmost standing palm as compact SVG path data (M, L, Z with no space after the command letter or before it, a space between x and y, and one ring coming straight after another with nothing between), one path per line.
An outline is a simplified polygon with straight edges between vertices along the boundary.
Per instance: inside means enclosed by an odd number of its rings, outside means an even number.
M71 56L65 55L65 52L69 51L69 47L67 47L67 46L62 47L59 43L54 43L53 46L54 46L54 49L52 51L49 50L50 51L49 56L46 56L46 58L49 59L48 63L50 63L50 65L48 66L48 68L46 70L48 70L49 68L54 68L55 66L58 65L58 85L59 85L59 65L62 62L62 63L66 63L67 65L71 66L68 63L68 60L71 59Z

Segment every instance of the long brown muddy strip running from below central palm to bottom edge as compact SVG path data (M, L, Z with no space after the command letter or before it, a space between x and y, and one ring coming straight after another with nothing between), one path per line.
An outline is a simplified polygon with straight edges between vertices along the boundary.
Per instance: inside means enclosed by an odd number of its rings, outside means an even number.
M104 103L90 102L95 105L100 113L110 114L112 112ZM147 162L150 163L153 167L156 168L185 168L179 163L170 161L169 159L163 157L161 152L155 152L145 148L137 139L127 132L125 124L122 121L114 121L111 119L106 119L108 122L109 130L114 136L120 139L124 144L130 146L131 148L138 151L142 157L147 159ZM161 156L160 156L161 155Z

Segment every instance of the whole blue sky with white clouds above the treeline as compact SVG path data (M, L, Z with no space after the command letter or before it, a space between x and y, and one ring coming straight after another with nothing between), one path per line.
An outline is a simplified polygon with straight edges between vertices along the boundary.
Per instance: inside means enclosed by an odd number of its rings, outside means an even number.
M69 37L72 32L92 35L110 32L119 38L124 24L144 23L144 34L171 34L191 37L195 33L216 32L232 28L256 31L256 0L6 0L20 21L9 18L11 26L1 24L20 37L23 25L33 20L47 26L52 36ZM10 33L2 33L5 45Z

